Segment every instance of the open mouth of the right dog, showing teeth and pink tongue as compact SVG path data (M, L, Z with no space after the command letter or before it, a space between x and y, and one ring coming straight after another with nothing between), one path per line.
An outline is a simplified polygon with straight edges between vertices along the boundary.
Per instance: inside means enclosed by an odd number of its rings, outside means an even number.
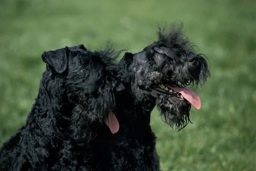
M186 87L180 88L176 85L158 84L154 87L154 90L166 94L167 96L172 96L172 98L175 98L176 100L185 100L192 104L197 110L201 108L201 100L199 96Z

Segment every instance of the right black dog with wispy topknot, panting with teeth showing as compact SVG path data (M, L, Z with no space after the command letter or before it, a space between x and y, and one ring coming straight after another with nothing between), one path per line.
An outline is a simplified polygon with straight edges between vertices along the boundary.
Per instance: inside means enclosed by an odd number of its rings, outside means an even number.
M177 130L184 128L190 122L191 104L198 110L201 107L198 95L186 86L203 85L210 77L204 55L193 52L193 46L183 35L182 26L160 29L158 38L142 52L125 53L118 62L126 71L123 73L128 74L123 82L128 82L130 94L122 100L122 105L119 104L117 113L126 117L120 131L126 130L125 134L129 136L132 134L129 148L136 149L133 151L137 154L134 164L144 166L137 167L136 171L160 170L156 138L149 125L155 105L169 126Z

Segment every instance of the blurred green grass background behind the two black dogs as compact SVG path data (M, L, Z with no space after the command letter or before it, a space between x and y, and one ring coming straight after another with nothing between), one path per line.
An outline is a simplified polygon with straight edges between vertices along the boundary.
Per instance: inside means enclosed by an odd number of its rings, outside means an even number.
M25 123L38 93L44 51L111 39L116 49L141 51L157 26L183 21L211 62L212 77L196 92L180 132L154 110L151 125L163 171L253 171L256 168L255 0L1 0L0 146Z

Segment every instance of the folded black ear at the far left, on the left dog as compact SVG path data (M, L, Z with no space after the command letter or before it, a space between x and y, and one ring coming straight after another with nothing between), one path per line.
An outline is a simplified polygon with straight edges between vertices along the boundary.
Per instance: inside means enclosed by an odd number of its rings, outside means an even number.
M67 57L69 49L66 46L65 48L44 52L42 54L42 60L44 63L49 64L56 72L62 73L67 68Z

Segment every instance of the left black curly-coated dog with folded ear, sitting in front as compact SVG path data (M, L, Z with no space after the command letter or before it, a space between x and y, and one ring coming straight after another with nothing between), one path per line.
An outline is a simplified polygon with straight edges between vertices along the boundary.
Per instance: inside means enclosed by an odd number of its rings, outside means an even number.
M99 163L106 159L95 144L105 144L119 130L113 114L115 94L122 90L113 62L117 56L111 49L90 52L83 45L44 52L47 69L38 97L26 124L0 149L0 171L104 168Z

